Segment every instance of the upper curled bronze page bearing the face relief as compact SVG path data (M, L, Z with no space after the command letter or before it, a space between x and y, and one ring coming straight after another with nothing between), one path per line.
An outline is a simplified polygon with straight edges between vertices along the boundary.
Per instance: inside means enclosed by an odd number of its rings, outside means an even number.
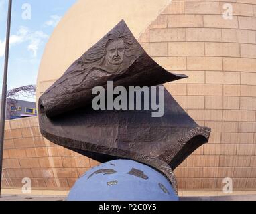
M115 56L117 48L118 54ZM54 71L52 71L54 72ZM159 66L137 42L125 21L74 62L39 99L39 110L48 117L88 106L92 88L113 86L156 86L186 78Z

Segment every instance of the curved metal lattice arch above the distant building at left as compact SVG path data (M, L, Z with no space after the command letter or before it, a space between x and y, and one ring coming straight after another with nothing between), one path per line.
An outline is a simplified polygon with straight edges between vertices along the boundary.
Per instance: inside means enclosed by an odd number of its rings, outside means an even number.
M36 85L22 86L7 92L7 98L19 100L19 97L34 98L36 96Z

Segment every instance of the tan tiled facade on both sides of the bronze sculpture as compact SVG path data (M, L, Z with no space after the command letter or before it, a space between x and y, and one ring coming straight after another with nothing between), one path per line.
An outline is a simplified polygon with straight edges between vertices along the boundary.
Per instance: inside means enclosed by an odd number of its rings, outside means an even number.
M225 3L232 20L222 17ZM256 190L255 16L255 0L172 1L139 37L164 68L190 77L166 88L212 128L210 142L176 169L180 189L221 190L231 177L235 189ZM39 80L39 92L53 81ZM34 188L69 189L97 164L42 138L37 118L8 121L6 129L3 187L21 187L31 177Z

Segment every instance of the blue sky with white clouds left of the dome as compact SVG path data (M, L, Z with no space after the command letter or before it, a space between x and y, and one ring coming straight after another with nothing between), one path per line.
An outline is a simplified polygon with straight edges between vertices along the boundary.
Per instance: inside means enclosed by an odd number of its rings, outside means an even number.
M8 89L36 84L44 47L58 21L75 2L76 0L13 0ZM8 0L0 0L1 86L3 84L7 7Z

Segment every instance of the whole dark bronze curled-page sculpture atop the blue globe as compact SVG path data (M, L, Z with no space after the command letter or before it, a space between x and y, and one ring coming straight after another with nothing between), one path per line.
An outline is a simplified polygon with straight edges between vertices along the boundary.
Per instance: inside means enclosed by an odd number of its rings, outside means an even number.
M185 77L155 63L121 21L40 97L40 131L48 140L99 162L123 158L149 165L178 193L173 169L208 142L210 128L198 126L166 90L162 118L152 118L152 110L95 111L91 100L92 88L106 89L109 80L114 87L127 88Z

